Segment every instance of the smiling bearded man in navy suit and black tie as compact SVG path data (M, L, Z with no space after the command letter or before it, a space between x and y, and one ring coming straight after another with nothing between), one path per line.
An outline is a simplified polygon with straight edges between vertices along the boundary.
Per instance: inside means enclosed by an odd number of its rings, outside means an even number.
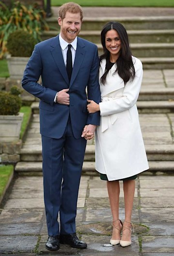
M58 250L59 243L87 248L76 236L75 217L87 139L100 124L99 112L87 112L87 96L99 103L101 94L97 46L77 37L82 19L82 8L76 3L59 8L60 33L35 46L22 80L23 88L40 99L48 250ZM68 48L73 64L70 77Z

